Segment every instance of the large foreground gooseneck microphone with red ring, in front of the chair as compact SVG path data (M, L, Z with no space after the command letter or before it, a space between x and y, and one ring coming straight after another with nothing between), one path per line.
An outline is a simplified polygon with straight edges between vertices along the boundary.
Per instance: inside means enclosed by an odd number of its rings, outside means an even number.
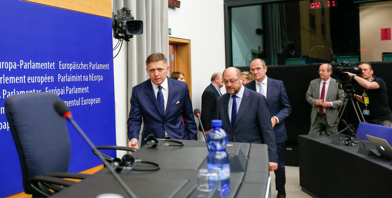
M119 175L114 171L113 167L102 157L102 153L98 151L96 146L93 144L93 142L90 141L90 139L84 134L83 130L79 127L79 125L75 122L75 120L72 118L72 113L70 111L70 107L65 105L64 101L62 100L57 100L54 103L54 108L56 109L56 112L63 118L69 120L72 125L78 130L79 134L83 137L83 139L87 142L87 144L94 150L94 152L98 155L98 157L102 160L103 164L109 169L111 174L113 175L114 179L119 182L119 184L123 187L123 189L127 192L129 197L136 197L136 195L131 191L131 189L128 188L128 186L125 184L125 182L119 177Z

